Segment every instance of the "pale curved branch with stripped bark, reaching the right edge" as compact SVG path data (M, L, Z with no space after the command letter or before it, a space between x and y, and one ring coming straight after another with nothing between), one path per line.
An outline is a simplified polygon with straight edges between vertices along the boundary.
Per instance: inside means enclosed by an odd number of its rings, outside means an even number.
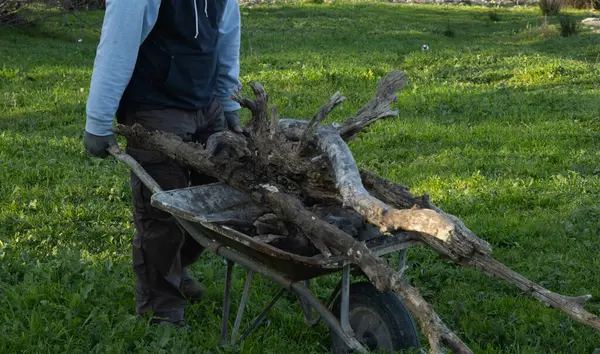
M289 124L290 127L298 126L294 122L284 124ZM487 242L478 238L459 218L433 205L427 195L412 196L405 187L363 171L362 177L367 179L375 193L405 209L396 209L385 204L365 189L350 149L334 129L324 126L314 135L319 151L330 161L344 206L354 209L382 230L418 231L421 233L421 240L443 256L505 280L544 304L564 311L573 319L600 330L600 319L583 307L590 295L566 297L528 280L489 256L491 247ZM409 206L410 209L406 209Z

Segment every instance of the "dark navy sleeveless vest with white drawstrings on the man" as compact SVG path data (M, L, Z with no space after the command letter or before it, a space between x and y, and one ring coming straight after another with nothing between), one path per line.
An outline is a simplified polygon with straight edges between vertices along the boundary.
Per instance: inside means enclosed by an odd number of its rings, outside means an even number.
M206 107L217 82L218 24L224 9L225 0L162 0L119 111Z

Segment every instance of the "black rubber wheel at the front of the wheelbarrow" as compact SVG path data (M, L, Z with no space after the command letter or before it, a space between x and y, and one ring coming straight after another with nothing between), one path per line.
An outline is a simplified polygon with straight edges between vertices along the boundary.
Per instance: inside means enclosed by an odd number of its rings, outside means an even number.
M338 296L332 308L338 318L340 302L341 296ZM419 332L404 303L396 294L379 292L371 283L350 285L348 321L356 339L367 350L413 353L421 347ZM333 353L350 353L344 341L335 332L330 332Z

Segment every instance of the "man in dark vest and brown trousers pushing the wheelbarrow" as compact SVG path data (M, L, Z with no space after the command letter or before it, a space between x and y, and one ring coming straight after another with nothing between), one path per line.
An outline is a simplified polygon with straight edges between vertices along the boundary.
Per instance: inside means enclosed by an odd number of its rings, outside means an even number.
M241 133L230 99L238 87L240 14L236 0L107 0L87 102L84 146L97 157L116 144L112 122L138 123L186 141L214 132ZM208 183L161 153L127 142L164 190ZM173 217L150 205L150 191L131 175L136 312L185 325L184 305L202 286L189 267L202 247Z

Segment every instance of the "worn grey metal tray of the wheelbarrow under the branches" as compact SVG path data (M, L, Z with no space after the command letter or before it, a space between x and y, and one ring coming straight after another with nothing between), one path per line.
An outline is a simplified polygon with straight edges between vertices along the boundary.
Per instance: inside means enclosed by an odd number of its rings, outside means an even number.
M193 237L202 234L217 244L276 269L293 281L308 280L339 271L349 263L346 255L327 258L319 254L305 257L286 252L228 226L252 225L268 209L226 184L213 183L154 193L151 203L158 209L190 221L185 227L194 228L188 230ZM414 236L411 232L382 236L369 240L367 247L377 255L384 255L418 244ZM201 240L198 241L202 243Z

